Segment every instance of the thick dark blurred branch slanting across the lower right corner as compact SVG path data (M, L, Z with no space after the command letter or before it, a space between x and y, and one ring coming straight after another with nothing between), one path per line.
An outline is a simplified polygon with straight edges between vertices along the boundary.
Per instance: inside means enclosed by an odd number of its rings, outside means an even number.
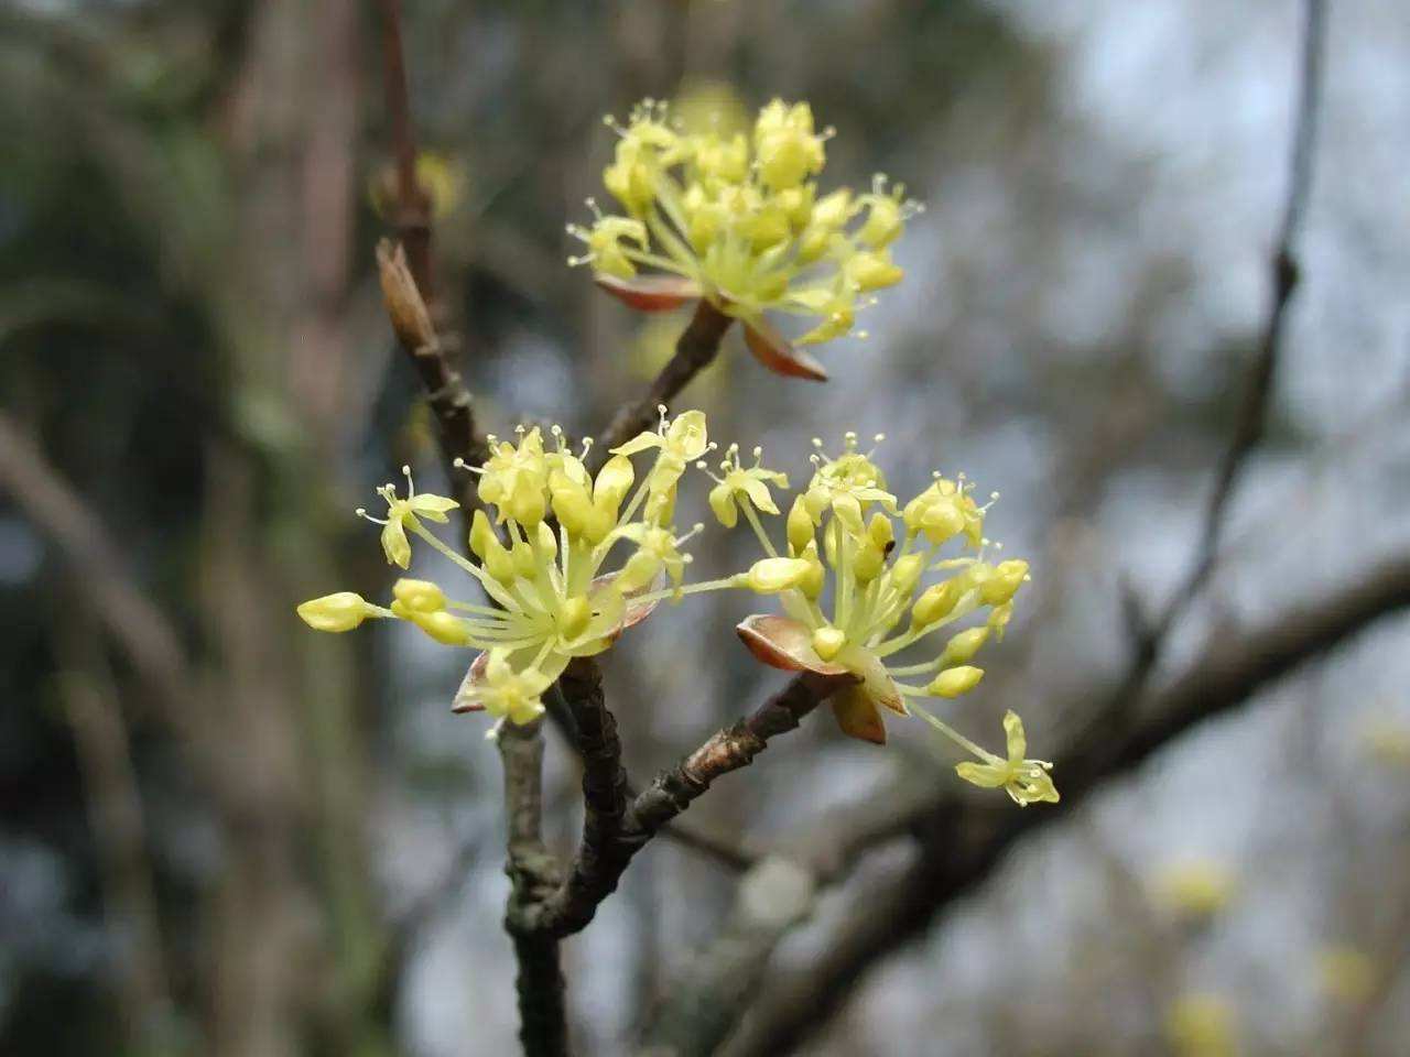
M825 953L798 974L780 979L752 1010L730 1057L791 1053L821 1029L881 958L922 933L964 892L998 865L1014 843L1079 806L1104 782L1129 772L1206 720L1237 707L1268 684L1317 660L1376 620L1410 607L1410 558L1389 561L1317 605L1280 614L1258 630L1221 634L1197 662L1144 709L1128 729L1084 730L1058 755L1062 803L1017 810L1007 801L935 805L916 861L873 889L871 912L849 917ZM1080 707L1074 702L1073 707Z

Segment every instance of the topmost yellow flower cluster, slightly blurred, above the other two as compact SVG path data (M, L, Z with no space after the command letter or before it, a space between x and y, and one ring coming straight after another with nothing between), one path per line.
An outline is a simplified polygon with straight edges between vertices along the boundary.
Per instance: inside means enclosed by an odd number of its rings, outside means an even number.
M770 362L761 345L783 342L766 311L815 320L797 344L830 341L852 333L873 290L901 280L890 247L921 207L880 175L867 193L819 196L814 178L832 130L814 128L807 103L776 99L752 134L688 131L653 100L626 125L608 121L619 140L603 185L626 216L603 214L589 199L591 227L568 227L587 252L570 264L591 264L627 303L664 309L706 297L743 320L750 347ZM650 271L644 282L639 268Z

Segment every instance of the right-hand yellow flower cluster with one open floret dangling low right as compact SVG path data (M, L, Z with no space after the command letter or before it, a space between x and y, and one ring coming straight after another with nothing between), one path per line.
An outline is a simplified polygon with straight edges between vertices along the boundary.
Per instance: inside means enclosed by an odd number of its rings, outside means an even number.
M777 595L784 609L784 614L746 619L740 638L766 664L852 676L853 685L832 698L847 734L884 743L883 710L914 710L977 758L957 765L964 781L1003 788L1019 805L1056 802L1052 765L1026 758L1017 715L1004 719L1007 747L997 755L916 706L919 699L959 698L979 685L984 671L971 661L991 637L1003 636L1028 564L986 558L987 506L974 502L963 476L936 475L900 507L871 455L857 450L856 434L846 435L836 458L821 452L821 441L815 444L812 479L785 519L787 548L773 544L759 517L759 512L777 513L768 485L787 488L783 475L764 469L757 451L752 468L742 468L733 450L721 466L723 476L711 493L715 516L730 526L743 512L766 554L735 582ZM960 555L942 557L952 541ZM940 578L926 585L931 574ZM983 614L980 623L949 633L935 648L932 636L976 614ZM914 650L932 655L895 664L900 654ZM916 685L907 676L928 681Z

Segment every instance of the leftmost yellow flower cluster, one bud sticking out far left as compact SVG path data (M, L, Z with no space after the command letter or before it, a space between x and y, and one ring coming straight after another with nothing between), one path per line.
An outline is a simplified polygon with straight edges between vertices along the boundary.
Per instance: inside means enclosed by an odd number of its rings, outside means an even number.
M388 607L338 592L305 602L299 616L320 631L350 631L368 617L393 617L439 643L478 648L484 653L471 664L455 709L484 709L515 723L536 719L543 692L571 658L602 653L663 598L685 593L689 557L680 547L694 531L681 536L671 527L675 492L687 466L711 444L699 412L667 421L661 409L661 416L658 430L616 448L595 476L557 427L553 450L537 427L520 427L515 441L491 437L485 465L465 468L479 475L478 497L485 505L471 523L474 561L426 527L424 521L448 520L457 503L419 495L409 468L403 466L405 497L393 485L378 489L386 517L358 510L382 524L388 562L407 568L409 537L416 537L470 574L494 606L453 600L429 581L400 579ZM656 459L637 482L632 457L647 451ZM618 544L629 554L608 571ZM661 589L667 579L671 586Z

